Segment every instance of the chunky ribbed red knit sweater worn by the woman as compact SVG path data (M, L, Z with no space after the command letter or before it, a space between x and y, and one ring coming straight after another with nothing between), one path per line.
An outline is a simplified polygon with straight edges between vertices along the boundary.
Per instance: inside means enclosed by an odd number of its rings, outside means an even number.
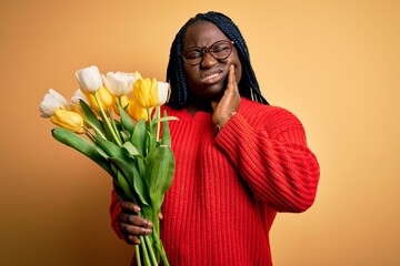
M319 164L290 112L242 99L216 134L211 114L167 108L176 174L162 205L161 238L172 266L272 265L277 212L299 213L316 197ZM120 211L111 200L119 236Z

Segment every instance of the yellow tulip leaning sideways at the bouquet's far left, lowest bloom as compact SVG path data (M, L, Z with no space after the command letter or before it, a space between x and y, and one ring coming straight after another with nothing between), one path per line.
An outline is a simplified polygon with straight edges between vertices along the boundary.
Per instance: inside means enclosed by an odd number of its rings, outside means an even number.
M70 130L72 132L83 134L84 129L83 126L83 119L80 114L64 110L64 109L57 109L54 111L54 115L50 117L50 121L66 130Z

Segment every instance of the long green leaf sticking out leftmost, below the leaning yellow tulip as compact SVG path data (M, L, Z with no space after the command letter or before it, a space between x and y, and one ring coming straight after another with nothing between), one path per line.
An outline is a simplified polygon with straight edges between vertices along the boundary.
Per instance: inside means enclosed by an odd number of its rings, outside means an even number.
M94 163L106 170L111 176L113 175L110 163L99 153L93 143L66 129L53 129L51 134L57 141L84 154L87 157L91 158Z

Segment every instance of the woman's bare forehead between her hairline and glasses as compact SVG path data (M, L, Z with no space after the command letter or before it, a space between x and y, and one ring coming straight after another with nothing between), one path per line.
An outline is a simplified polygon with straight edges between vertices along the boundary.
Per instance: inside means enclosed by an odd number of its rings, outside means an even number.
M188 47L209 47L216 41L229 40L212 22L198 21L189 25L183 35L183 49Z

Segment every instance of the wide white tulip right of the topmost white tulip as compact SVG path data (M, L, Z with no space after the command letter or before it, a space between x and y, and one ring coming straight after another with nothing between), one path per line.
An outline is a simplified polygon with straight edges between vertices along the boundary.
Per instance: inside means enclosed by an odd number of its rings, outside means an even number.
M132 73L108 72L107 75L102 75L102 80L109 92L120 98L128 95L132 91L137 78Z

